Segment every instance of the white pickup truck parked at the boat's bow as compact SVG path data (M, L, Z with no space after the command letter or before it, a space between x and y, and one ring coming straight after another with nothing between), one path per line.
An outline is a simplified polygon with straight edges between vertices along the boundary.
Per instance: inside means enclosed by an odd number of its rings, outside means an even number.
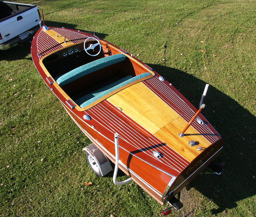
M30 40L40 28L36 5L0 1L0 50Z

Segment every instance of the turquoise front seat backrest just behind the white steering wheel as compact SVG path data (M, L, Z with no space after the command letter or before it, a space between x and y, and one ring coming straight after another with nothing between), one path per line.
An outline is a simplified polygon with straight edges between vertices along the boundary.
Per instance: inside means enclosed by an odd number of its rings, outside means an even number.
M126 56L123 54L115 54L115 55L106 56L104 58L94 60L90 63L77 67L76 69L73 69L64 75L61 75L56 80L56 82L57 84L59 84L59 86L63 86L65 84L68 84L69 82L72 82L78 78L81 78L84 75L88 75L99 69L103 69L112 64L124 61L125 58Z

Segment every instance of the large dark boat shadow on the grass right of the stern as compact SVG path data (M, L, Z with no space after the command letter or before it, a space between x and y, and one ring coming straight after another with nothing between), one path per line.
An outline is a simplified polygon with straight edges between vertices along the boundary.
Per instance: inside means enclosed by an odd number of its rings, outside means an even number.
M148 65L176 87L196 108L199 107L206 85L204 81L177 69ZM213 86L209 86L205 105L201 113L224 139L224 148L219 158L226 165L221 175L199 175L190 186L214 201L218 207L211 212L218 214L256 195L253 178L256 118L237 101Z

